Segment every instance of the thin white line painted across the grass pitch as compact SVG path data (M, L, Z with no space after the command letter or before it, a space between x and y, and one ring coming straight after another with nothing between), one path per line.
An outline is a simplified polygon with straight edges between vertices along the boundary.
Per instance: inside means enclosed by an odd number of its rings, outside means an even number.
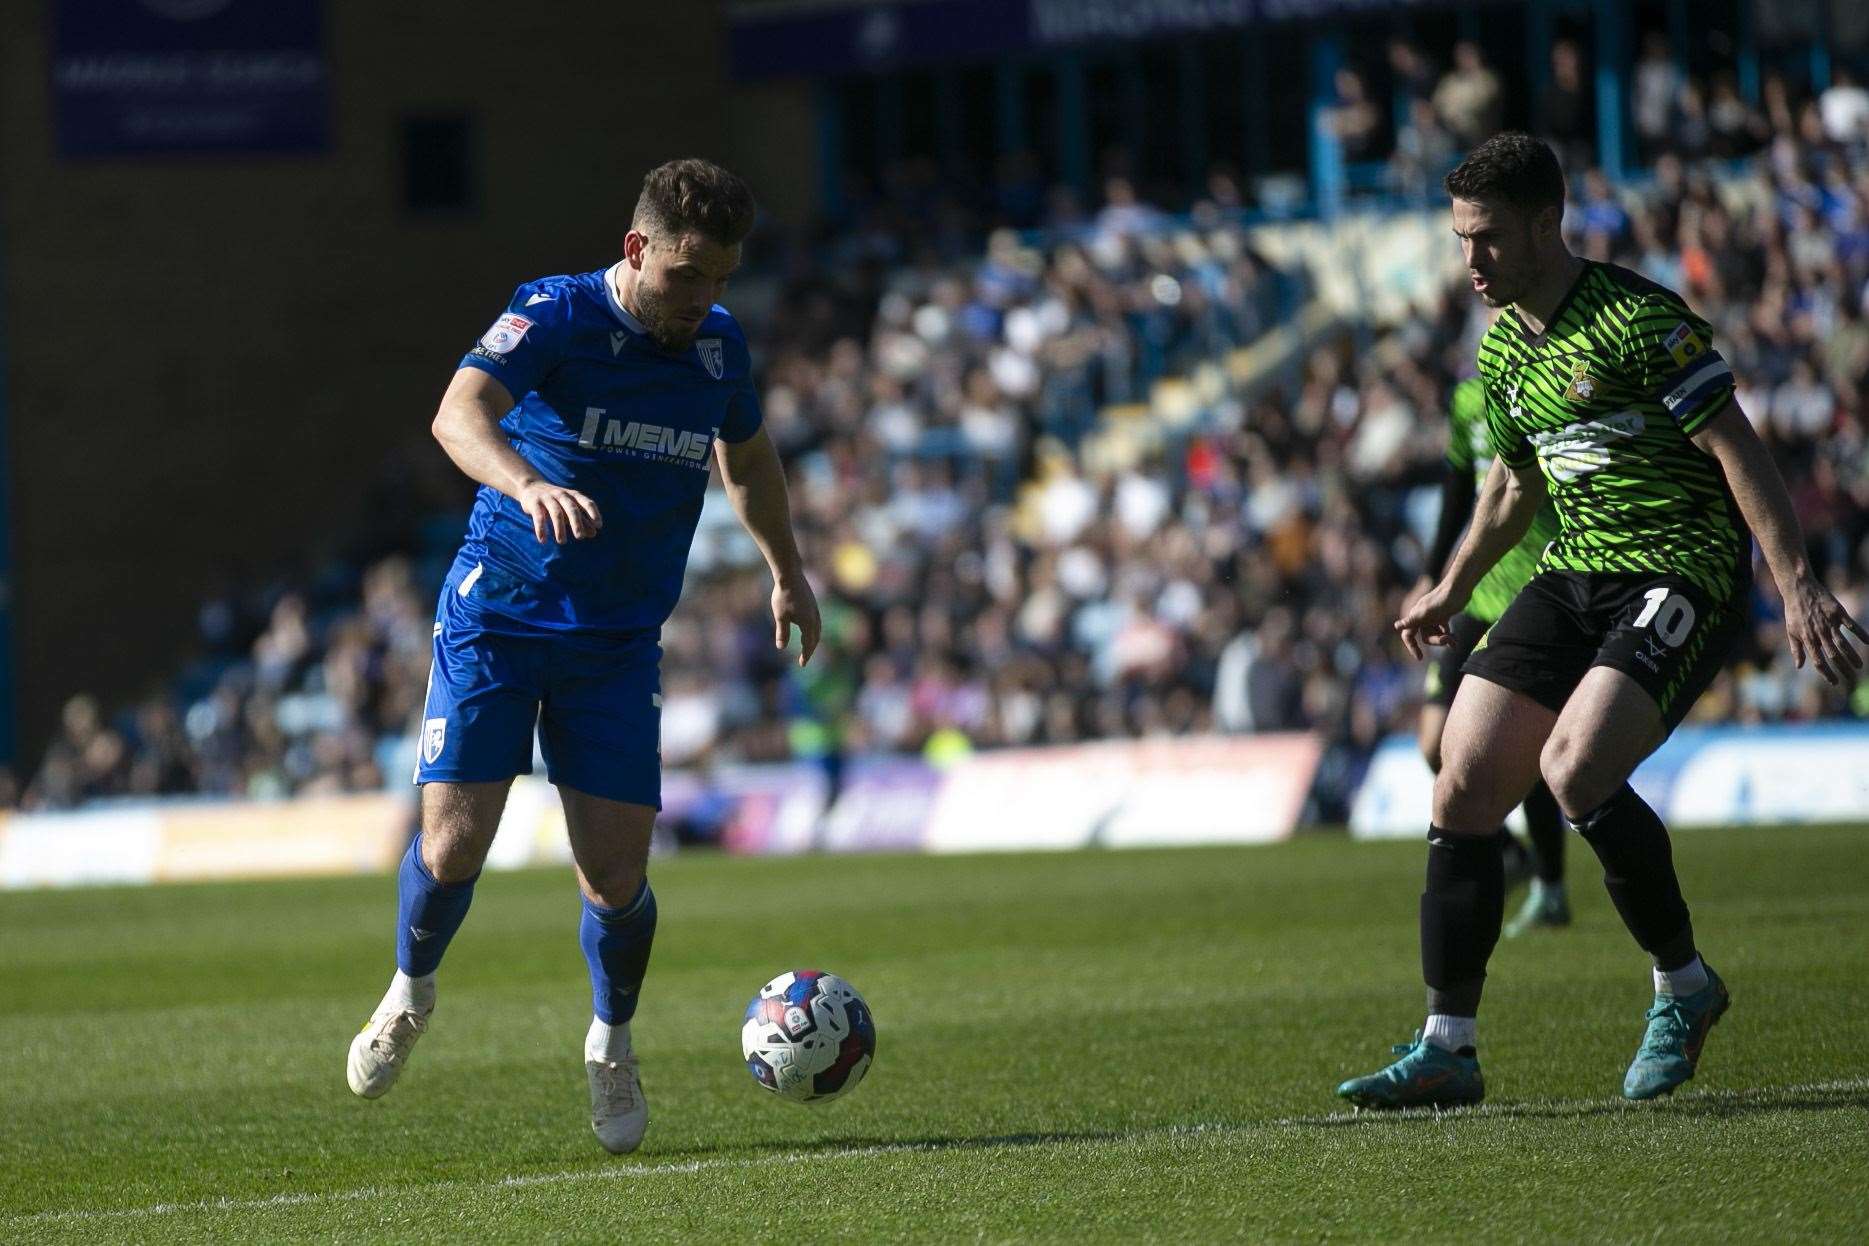
M1869 1091L1869 1078L1845 1078L1839 1082L1804 1082L1796 1085L1774 1085L1774 1087L1755 1087L1742 1091L1706 1091L1695 1095L1693 1098L1680 1100L1688 1104L1746 1104L1746 1102L1770 1102L1774 1098L1785 1098L1794 1095L1839 1095ZM1619 1108L1626 1111L1641 1111L1643 1108L1635 1104L1626 1104L1620 1098L1572 1098L1572 1100L1529 1100L1512 1104L1480 1104L1477 1108L1456 1108L1452 1111L1441 1113L1450 1119L1475 1119L1475 1117L1514 1117L1521 1115L1527 1119L1536 1117L1561 1117L1570 1115L1577 1108ZM1665 1111L1665 1106L1662 1106ZM1202 1121L1192 1125L1161 1125L1155 1128L1131 1130L1127 1134L1116 1136L1097 1136L1090 1134L1082 1141L1142 1141L1148 1138L1189 1138L1189 1136L1215 1136L1215 1134L1252 1134L1269 1128L1293 1128L1310 1125L1336 1125L1348 1121L1420 1121L1432 1117L1428 1111L1407 1111L1407 1113L1357 1113L1340 1111L1336 1115L1314 1115L1314 1117L1278 1117L1269 1121ZM1071 1141L1069 1136L1060 1136L1060 1141ZM966 1145L966 1140L961 1140ZM992 1141L981 1140L977 1149L992 1149ZM1019 1143L1006 1143L1019 1145ZM355 1190L307 1190L301 1194L269 1194L258 1199L232 1199L215 1197L200 1199L194 1203L150 1203L146 1207L112 1207L112 1209L69 1209L69 1211L41 1211L30 1212L26 1216L7 1216L0 1220L6 1227L26 1227L36 1224L95 1224L107 1220L146 1220L153 1216L176 1216L187 1212L249 1212L249 1211L267 1211L273 1207L305 1207L316 1203L361 1203L366 1199L398 1197L406 1194L437 1194L443 1190L523 1190L531 1186L566 1186L583 1184L589 1181L639 1181L645 1177L663 1177L663 1175L690 1175L690 1173L708 1173L708 1171L733 1171L748 1168L781 1168L789 1164L811 1164L815 1160L862 1160L878 1154L914 1154L921 1151L946 1151L951 1143L940 1141L903 1141L888 1143L877 1147L843 1147L835 1151L779 1151L772 1154L755 1154L744 1158L712 1158L712 1160L682 1160L677 1164L639 1164L639 1166L615 1166L615 1168L572 1168L555 1173L512 1173L506 1177L497 1177L493 1181L430 1181L406 1186L363 1186Z

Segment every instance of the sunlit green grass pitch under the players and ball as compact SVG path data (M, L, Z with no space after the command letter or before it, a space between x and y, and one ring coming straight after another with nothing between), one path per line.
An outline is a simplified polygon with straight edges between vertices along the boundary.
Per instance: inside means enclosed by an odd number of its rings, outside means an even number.
M645 1149L585 1121L568 872L488 876L379 1102L344 1048L392 880L0 895L4 1240L1862 1240L1869 829L1695 831L1733 1012L1617 1098L1647 962L1572 841L1577 925L1501 943L1490 1100L1351 1115L1420 1022L1407 844L658 863ZM779 970L878 1052L798 1108L740 1063Z

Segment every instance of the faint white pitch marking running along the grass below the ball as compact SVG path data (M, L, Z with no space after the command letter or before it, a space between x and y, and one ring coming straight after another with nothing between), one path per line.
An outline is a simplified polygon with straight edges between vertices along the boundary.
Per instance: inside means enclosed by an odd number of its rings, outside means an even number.
M1056 1145L1065 1141L1106 1141L1140 1143L1151 1138L1198 1138L1198 1136L1237 1136L1284 1128L1340 1128L1405 1123L1420 1119L1463 1121L1463 1119L1561 1119L1589 1117L1622 1111L1675 1111L1691 1115L1723 1115L1742 1110L1772 1110L1804 1106L1809 1110L1860 1108L1869 1097L1869 1078L1843 1078L1835 1082L1804 1082L1792 1085L1755 1087L1742 1091L1699 1091L1663 1104L1630 1104L1620 1098L1564 1098L1542 1102L1499 1102L1478 1104L1475 1108L1454 1108L1448 1111L1407 1110L1407 1111L1336 1111L1308 1117L1278 1117L1267 1121L1202 1121L1192 1125L1164 1125L1157 1128L1112 1132L1112 1134L1032 1134L1028 1138L957 1138L934 1141L903 1141L873 1147L826 1147L815 1151L778 1151L753 1156L718 1156L699 1160L677 1160L667 1164L624 1164L611 1168L574 1168L551 1173L514 1173L492 1181L432 1181L398 1186L363 1186L353 1190L308 1190L303 1194L271 1194L256 1199L200 1199L193 1203L150 1203L144 1207L107 1207L107 1209L65 1209L43 1211L24 1216L7 1216L0 1225L24 1229L28 1225L50 1224L103 1224L118 1220L146 1220L196 1212L250 1212L277 1207L307 1207L323 1203L359 1203L368 1199L402 1197L409 1194L441 1194L447 1190L520 1190L531 1186L564 1186L600 1181L637 1181L662 1175L690 1175L708 1171L744 1171L759 1168L779 1168L789 1164L809 1164L817 1160L862 1160L882 1154L916 1154L933 1151L961 1149L1017 1149L1035 1145Z

